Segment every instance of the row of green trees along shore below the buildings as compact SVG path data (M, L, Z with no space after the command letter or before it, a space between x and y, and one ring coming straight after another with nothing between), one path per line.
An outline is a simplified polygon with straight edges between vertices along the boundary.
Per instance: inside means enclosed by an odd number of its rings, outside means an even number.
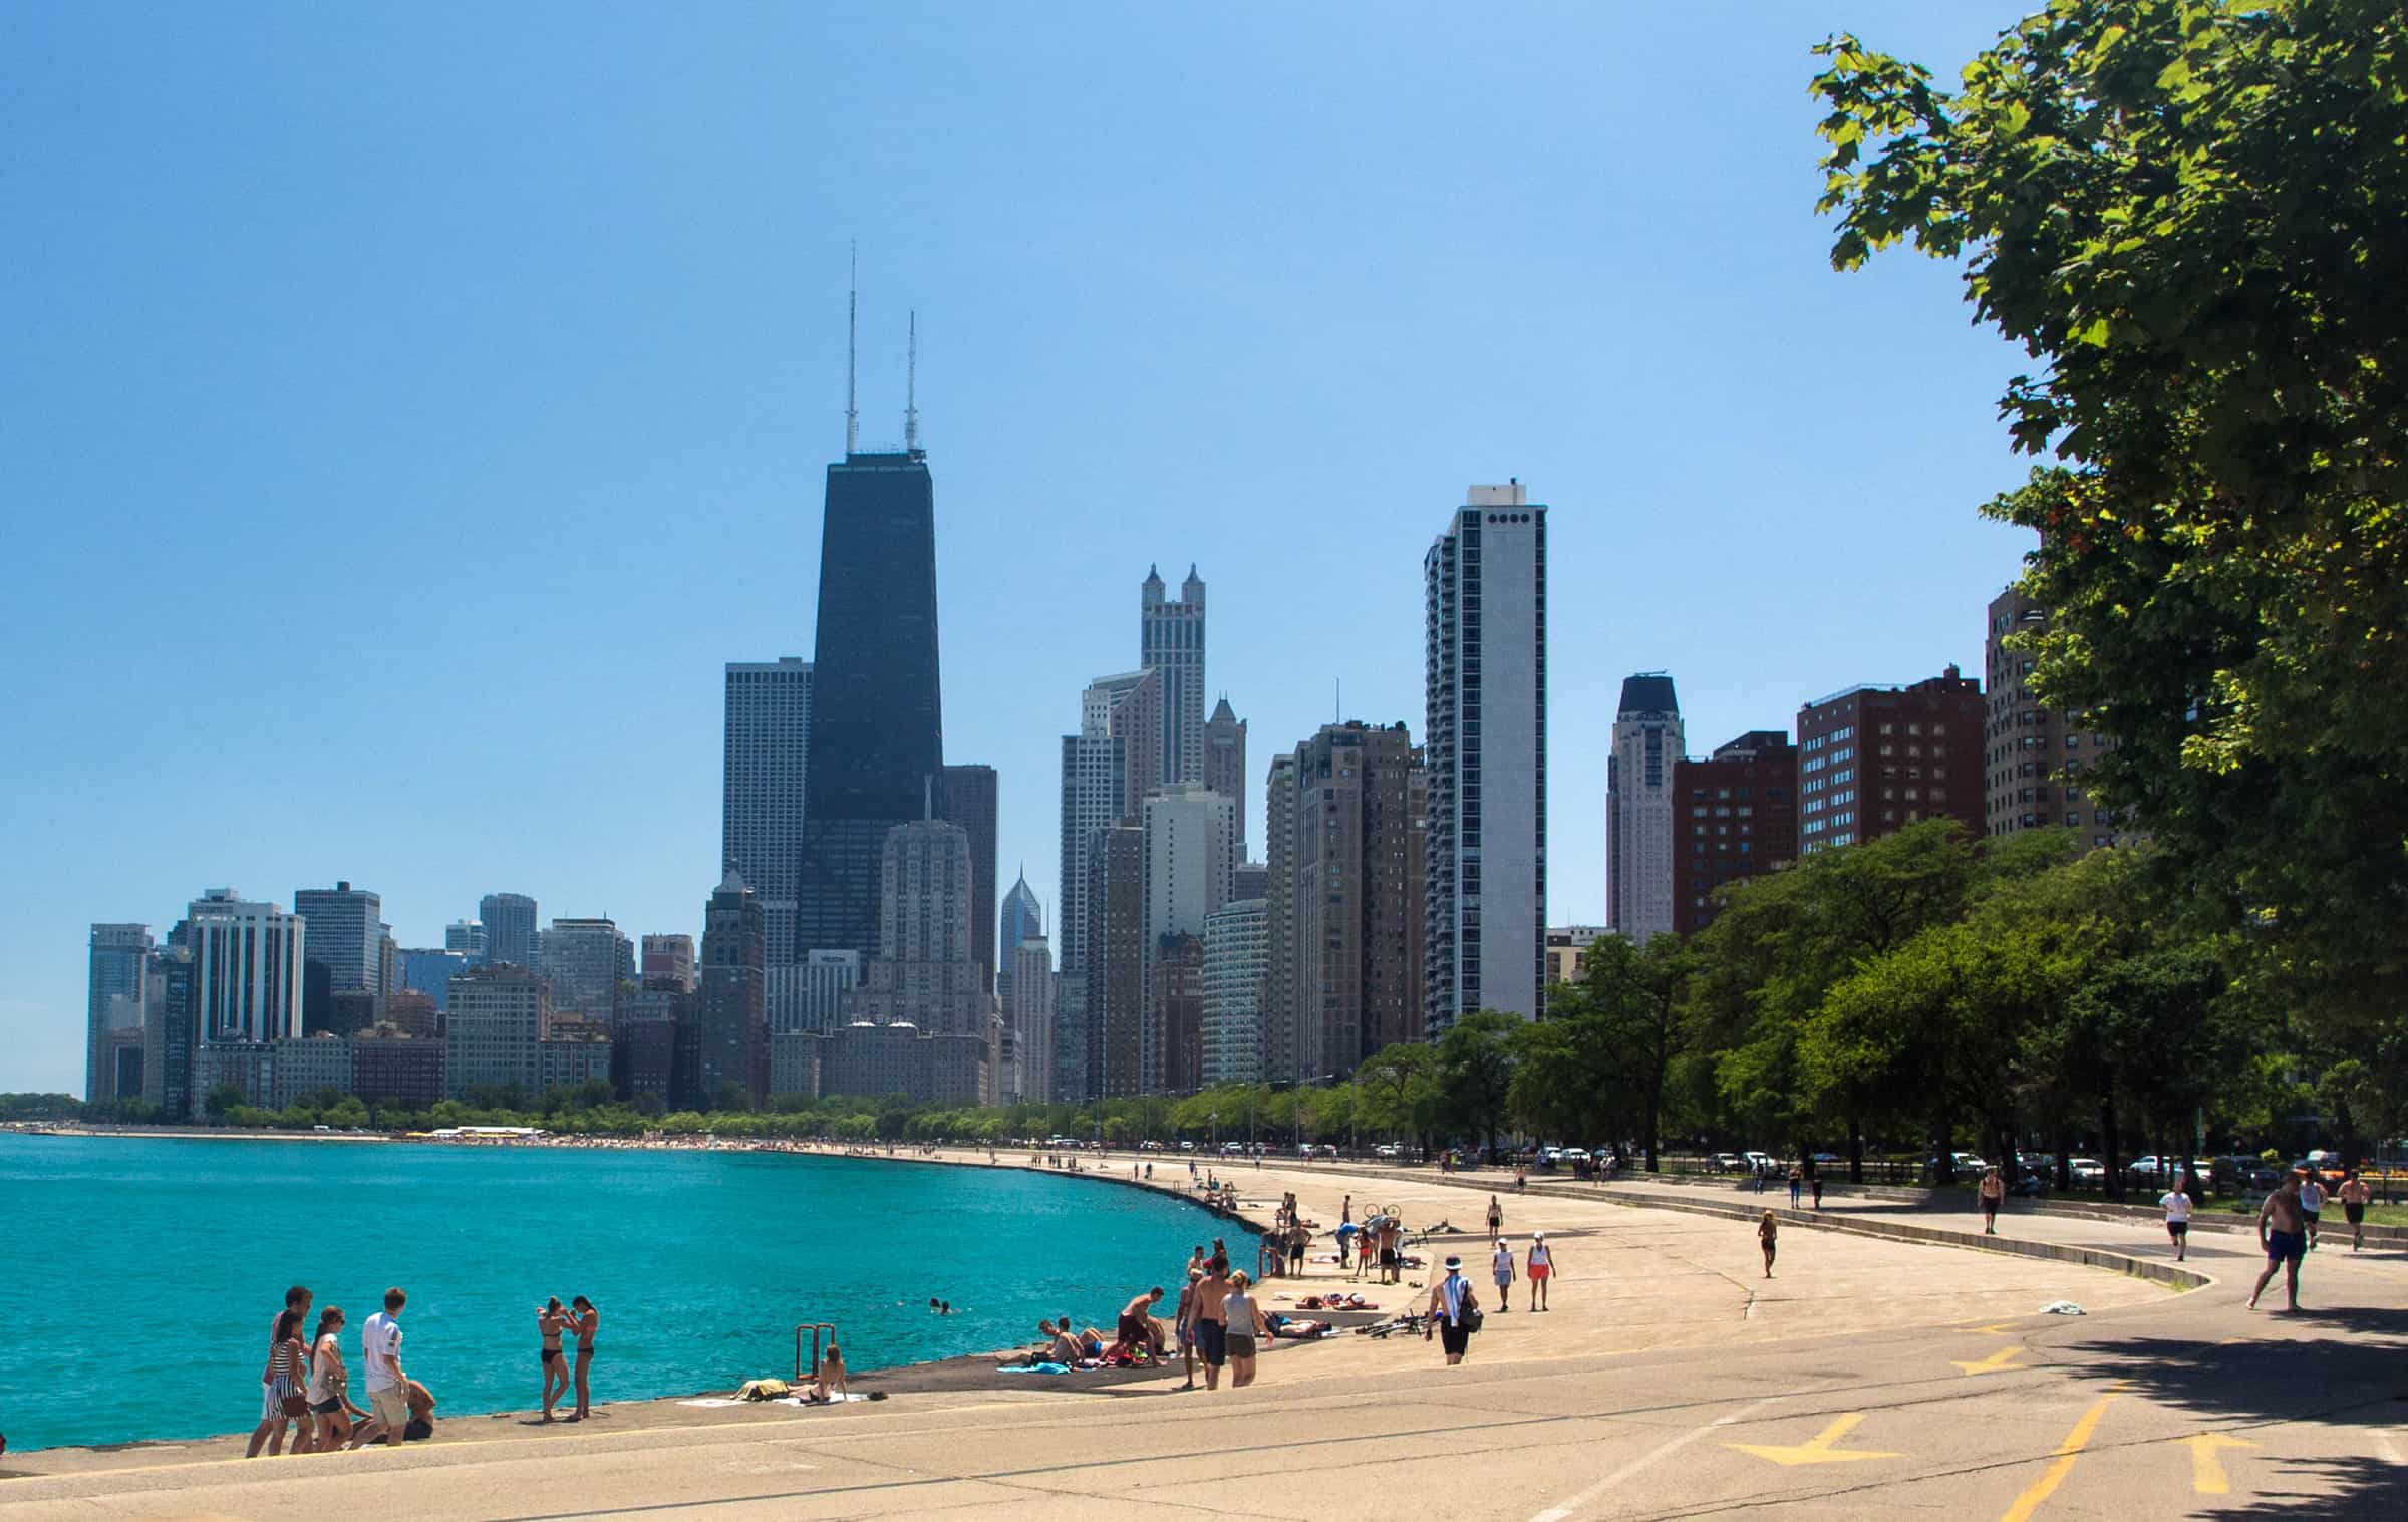
M1363 1149L1507 1137L1597 1144L1652 1170L1666 1137L1719 1137L1787 1156L1828 1149L1861 1178L1876 1154L2001 1158L2044 1144L2097 1151L2109 1185L2136 1151L2189 1156L2331 1117L2343 1151L2401 1129L2408 1040L2333 1043L2249 975L2249 934L2201 925L2150 843L2085 850L2071 831L1972 838L1953 821L1816 853L1734 884L1695 937L1604 937L1551 1016L1476 1014L1394 1045L1351 1081L1230 1084L1100 1105L780 1101L766 1113L645 1113L607 1084L520 1103L486 1093L431 1110L311 1096L260 1110L214 1093L222 1125L431 1129L539 1125L588 1134L1011 1142L1096 1137L1324 1142ZM108 1117L55 1096L0 1117ZM137 1115L123 1115L137 1120Z

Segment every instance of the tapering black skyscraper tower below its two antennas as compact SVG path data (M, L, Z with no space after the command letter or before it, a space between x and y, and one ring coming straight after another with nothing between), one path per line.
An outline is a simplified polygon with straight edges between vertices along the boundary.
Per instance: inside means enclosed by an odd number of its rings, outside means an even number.
M795 961L877 956L886 831L929 802L944 816L937 499L925 453L845 455L828 467L811 665Z

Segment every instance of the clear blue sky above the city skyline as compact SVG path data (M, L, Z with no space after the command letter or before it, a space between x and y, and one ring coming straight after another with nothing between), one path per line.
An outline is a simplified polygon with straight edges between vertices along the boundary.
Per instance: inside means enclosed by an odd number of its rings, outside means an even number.
M1808 46L2018 0L34 5L0 48L0 1089L92 920L349 879L701 930L727 660L811 653L920 313L946 756L1052 905L1057 747L1158 561L1274 751L1421 735L1421 554L1551 506L1551 920L1621 679L1688 749L1979 669L2023 356L1828 267Z

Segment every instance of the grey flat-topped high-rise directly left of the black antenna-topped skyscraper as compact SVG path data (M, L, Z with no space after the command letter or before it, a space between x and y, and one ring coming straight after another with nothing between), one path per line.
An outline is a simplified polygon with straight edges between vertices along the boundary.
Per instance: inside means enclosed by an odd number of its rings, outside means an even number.
M727 662L727 737L720 790L720 867L761 896L766 966L795 949L802 869L802 783L811 739L811 662L799 655Z

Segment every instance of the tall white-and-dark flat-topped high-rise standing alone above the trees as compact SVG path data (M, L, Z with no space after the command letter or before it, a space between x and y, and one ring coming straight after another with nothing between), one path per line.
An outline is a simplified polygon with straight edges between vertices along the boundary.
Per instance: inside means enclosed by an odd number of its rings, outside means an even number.
M1421 566L1435 1038L1481 1009L1546 1014L1546 506L1471 486Z

